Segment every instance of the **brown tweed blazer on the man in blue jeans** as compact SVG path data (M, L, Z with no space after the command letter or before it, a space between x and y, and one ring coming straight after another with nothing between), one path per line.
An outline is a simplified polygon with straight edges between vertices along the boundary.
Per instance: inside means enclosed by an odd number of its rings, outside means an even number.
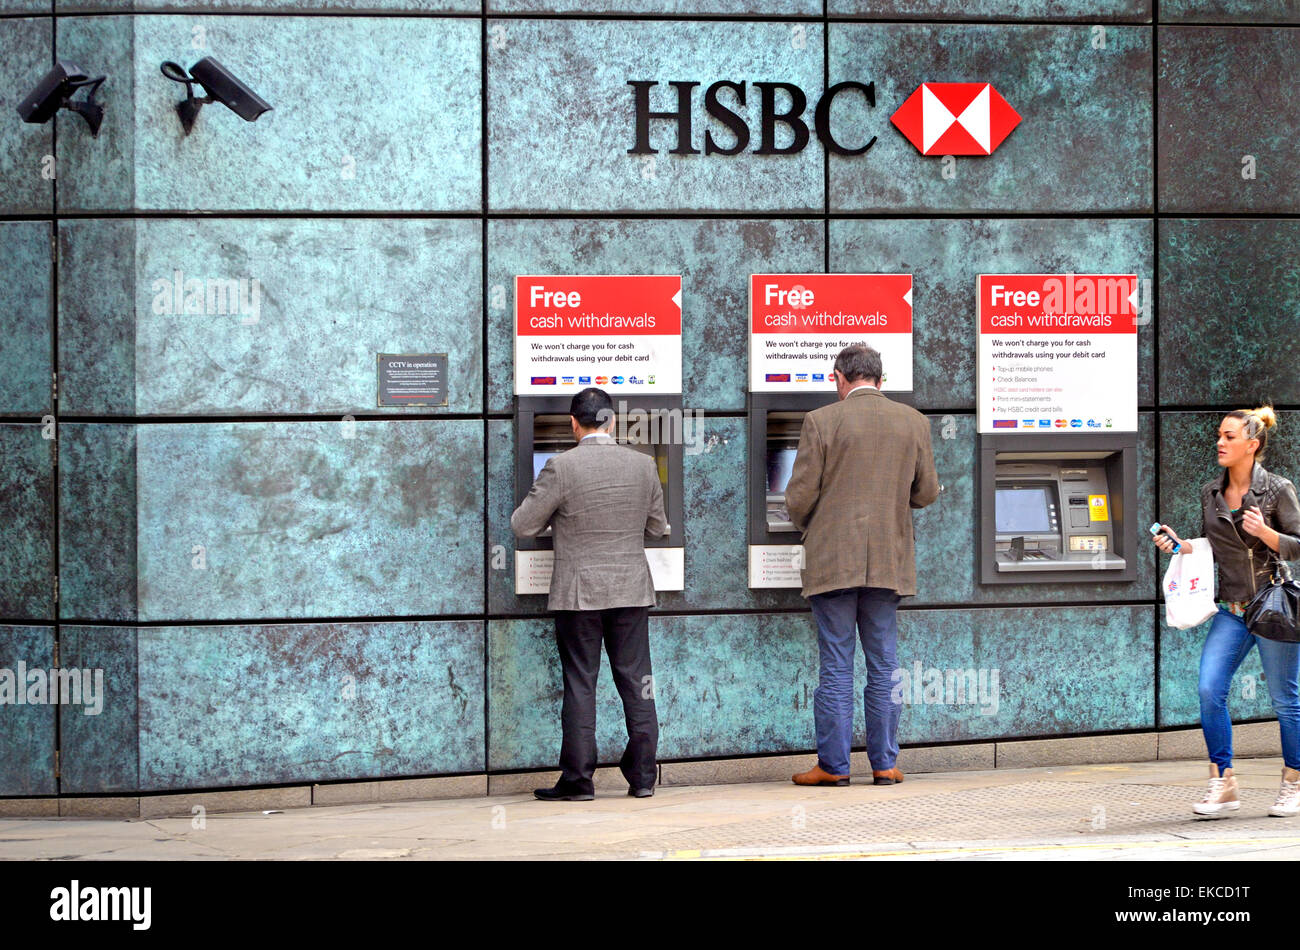
M916 593L911 509L939 498L930 422L864 386L803 417L785 489L803 532L803 597L845 587Z

